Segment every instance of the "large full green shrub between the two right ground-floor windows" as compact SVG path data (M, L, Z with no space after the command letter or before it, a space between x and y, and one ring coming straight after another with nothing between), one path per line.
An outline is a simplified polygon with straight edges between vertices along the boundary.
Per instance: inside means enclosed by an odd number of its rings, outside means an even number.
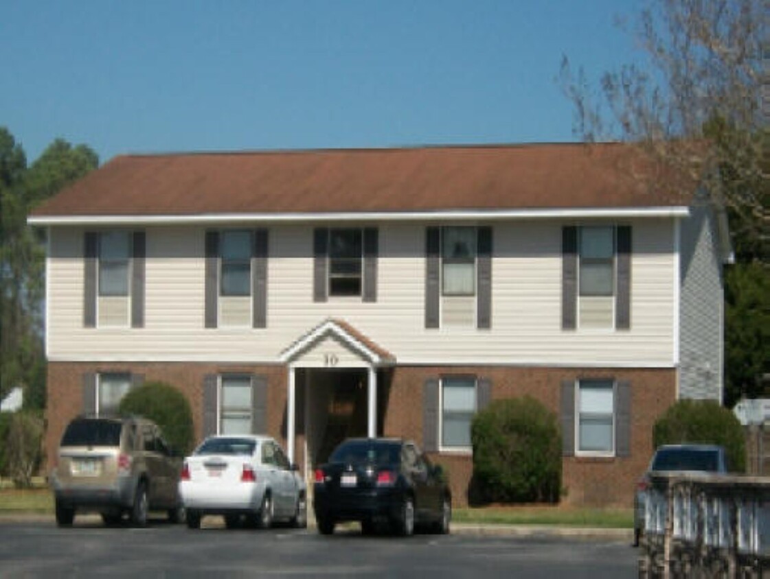
M556 415L525 396L492 402L474 417L472 501L558 501L561 436Z

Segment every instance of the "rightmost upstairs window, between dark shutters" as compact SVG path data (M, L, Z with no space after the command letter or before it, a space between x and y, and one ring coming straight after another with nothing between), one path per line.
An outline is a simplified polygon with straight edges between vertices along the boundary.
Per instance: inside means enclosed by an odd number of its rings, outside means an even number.
M584 226L579 231L579 294L581 297L614 295L615 228Z

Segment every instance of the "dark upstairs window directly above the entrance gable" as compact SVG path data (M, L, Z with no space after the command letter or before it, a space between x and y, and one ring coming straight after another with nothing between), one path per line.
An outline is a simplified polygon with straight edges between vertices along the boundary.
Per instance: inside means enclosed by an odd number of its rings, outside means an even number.
M329 230L329 295L360 296L363 291L363 231Z

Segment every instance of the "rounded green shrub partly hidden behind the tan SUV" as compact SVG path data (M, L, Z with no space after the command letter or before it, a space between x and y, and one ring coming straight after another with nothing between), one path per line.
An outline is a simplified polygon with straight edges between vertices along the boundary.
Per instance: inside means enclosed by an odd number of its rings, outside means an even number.
M192 412L179 390L165 382L147 382L122 398L120 414L138 414L154 421L172 449L182 454L192 450Z

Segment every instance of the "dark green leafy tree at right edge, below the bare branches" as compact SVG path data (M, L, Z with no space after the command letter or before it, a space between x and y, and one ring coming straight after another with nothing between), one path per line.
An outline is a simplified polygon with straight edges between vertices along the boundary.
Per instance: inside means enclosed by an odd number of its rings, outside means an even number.
M762 376L770 373L770 276L754 261L728 268L725 279L727 364L725 403L767 396Z

